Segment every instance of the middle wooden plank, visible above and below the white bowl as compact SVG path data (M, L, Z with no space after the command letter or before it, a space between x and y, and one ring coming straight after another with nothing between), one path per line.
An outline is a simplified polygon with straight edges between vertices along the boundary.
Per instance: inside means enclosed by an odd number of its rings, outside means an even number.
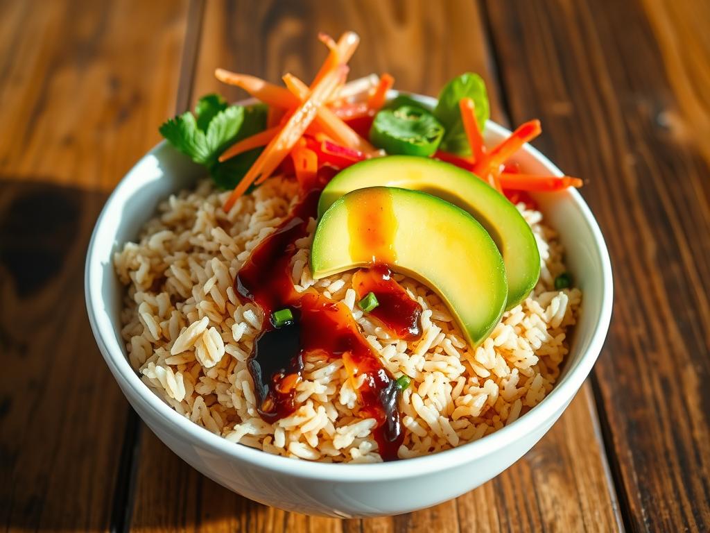
M324 57L316 32L337 35L346 29L363 38L352 62L354 77L388 70L398 88L436 94L449 77L465 70L481 72L491 91L494 117L506 122L496 76L488 68L484 20L469 1L437 10L427 9L424 2L209 2L192 100L214 91L232 100L244 97L214 80L217 66L274 82L286 70L309 78ZM202 478L146 432L132 527L270 533L613 531L618 520L605 461L585 385L540 445L491 483L410 515L341 521L283 512L234 495Z

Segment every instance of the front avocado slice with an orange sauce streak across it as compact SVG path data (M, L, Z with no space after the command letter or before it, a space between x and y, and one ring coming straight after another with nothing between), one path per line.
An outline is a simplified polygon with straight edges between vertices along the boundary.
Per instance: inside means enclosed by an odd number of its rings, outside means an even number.
M313 236L315 279L386 264L434 290L466 340L485 340L506 308L503 257L467 212L418 190L370 187L335 200Z

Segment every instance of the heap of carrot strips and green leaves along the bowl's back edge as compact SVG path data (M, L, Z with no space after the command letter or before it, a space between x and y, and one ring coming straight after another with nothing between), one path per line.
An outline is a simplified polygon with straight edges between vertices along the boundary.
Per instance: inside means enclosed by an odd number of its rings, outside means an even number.
M338 41L324 33L318 38L328 55L310 86L290 73L283 77L285 87L280 87L217 69L218 80L241 87L262 103L230 106L218 95L207 95L197 102L194 114L178 115L160 126L165 139L205 166L219 187L234 189L225 210L275 171L295 173L305 192L309 184L323 180L323 168L332 173L366 158L393 154L447 161L502 193L582 185L569 176L533 176L513 170L508 159L540 134L536 120L486 150L483 133L490 110L479 75L465 72L450 80L433 109L406 94L388 102L394 83L391 75L345 83L346 63L359 43L356 33L346 32ZM299 143L300 139L304 141Z

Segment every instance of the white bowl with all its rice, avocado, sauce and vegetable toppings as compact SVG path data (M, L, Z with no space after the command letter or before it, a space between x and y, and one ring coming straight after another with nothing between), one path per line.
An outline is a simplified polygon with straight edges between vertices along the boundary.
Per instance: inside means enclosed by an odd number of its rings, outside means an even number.
M172 147L97 222L87 309L195 468L288 510L397 514L545 434L599 354L611 270L583 182L526 144L539 121L488 122L470 72L438 100L346 83L359 37L319 38L310 86L218 69L261 103L206 95L160 126Z

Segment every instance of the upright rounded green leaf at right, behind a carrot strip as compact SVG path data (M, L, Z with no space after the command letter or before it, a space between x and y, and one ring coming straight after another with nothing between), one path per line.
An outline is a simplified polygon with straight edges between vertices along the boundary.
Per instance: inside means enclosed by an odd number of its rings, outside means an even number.
M465 72L444 85L439 93L437 107L434 109L435 117L446 129L439 148L460 156L471 155L471 147L466 139L466 130L459 109L459 100L466 97L473 99L476 104L476 122L479 124L479 129L484 131L491 110L488 107L486 84L477 74Z

